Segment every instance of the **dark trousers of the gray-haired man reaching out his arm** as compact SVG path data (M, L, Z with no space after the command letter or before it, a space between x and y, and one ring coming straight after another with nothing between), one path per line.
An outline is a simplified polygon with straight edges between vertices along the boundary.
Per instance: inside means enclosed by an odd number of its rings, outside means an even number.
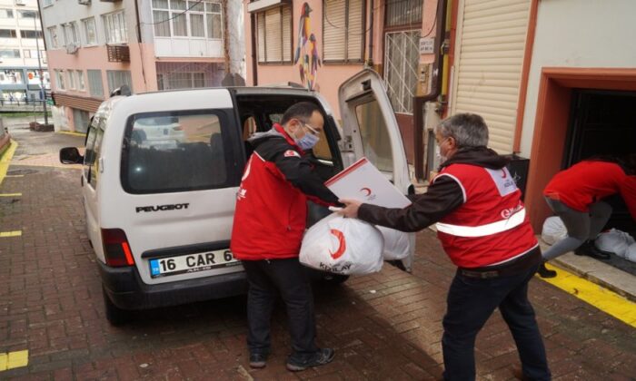
M523 376L550 380L548 361L534 309L528 300L528 282L538 266L499 278L469 278L457 271L448 292L442 324L445 380L475 379L475 337L495 308L510 328L522 360Z

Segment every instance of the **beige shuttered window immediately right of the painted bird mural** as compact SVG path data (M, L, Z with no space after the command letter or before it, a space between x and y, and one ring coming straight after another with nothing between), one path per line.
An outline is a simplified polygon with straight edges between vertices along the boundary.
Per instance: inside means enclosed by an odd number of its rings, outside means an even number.
M326 0L323 9L323 61L363 62L363 0Z

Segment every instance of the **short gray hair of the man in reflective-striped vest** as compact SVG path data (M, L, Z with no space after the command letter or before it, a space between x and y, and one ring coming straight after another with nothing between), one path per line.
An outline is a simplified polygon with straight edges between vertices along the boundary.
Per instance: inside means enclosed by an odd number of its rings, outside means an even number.
M488 126L476 113L458 113L444 119L435 127L442 138L452 137L457 148L480 147L488 144Z

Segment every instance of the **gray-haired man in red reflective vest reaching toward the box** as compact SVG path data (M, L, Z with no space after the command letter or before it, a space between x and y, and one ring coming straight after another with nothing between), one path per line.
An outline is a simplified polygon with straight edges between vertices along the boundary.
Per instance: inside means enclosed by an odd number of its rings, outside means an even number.
M340 200L345 208L339 213L402 231L437 222L442 247L458 267L442 321L444 379L475 379L475 337L499 308L519 349L523 376L548 380L545 348L528 300L541 250L507 161L486 147L488 127L476 114L444 120L435 138L441 171L410 206L388 209Z

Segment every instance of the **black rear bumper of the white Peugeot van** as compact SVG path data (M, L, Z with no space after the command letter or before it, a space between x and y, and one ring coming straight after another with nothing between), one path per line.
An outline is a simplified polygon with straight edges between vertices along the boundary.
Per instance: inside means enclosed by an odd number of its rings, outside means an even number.
M157 285L145 284L137 269L111 268L98 262L104 290L122 309L147 309L234 297L247 292L245 272L188 279Z

